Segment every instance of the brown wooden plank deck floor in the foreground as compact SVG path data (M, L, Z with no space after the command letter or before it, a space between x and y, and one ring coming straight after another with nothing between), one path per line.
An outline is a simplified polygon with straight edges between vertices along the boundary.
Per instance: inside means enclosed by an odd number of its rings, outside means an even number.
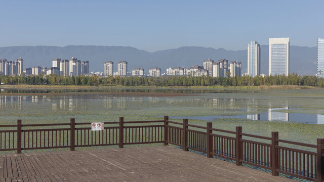
M293 181L171 146L0 154L0 181Z

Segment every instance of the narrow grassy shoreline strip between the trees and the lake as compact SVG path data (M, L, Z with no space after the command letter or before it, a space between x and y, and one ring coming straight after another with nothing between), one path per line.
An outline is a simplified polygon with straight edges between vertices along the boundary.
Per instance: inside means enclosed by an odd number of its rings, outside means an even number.
M322 89L320 87L314 86L298 86L298 85L260 85L260 86L123 86L123 85L0 85L2 88L49 88L49 89L100 89L100 88L180 88L180 89L195 89L195 88L208 88L208 89Z

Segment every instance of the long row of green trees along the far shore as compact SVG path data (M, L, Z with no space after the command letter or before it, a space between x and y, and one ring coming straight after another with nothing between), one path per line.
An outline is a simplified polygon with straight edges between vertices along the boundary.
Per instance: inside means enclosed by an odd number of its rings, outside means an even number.
M2 84L16 85L124 85L124 86L259 86L259 85L305 85L324 87L324 78L301 76L296 73L270 76L211 77L211 76L161 76L161 77L119 77L119 76L57 76L0 75Z

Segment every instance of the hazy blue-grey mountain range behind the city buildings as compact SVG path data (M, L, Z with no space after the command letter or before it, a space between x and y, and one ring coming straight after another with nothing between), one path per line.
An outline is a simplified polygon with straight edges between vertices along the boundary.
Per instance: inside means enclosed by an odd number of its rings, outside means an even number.
M261 73L268 74L268 45L261 45ZM316 47L290 46L290 72L300 75L313 75L316 73ZM95 46L95 45L68 45L55 46L16 46L0 48L0 58L14 60L24 59L24 68L32 66L50 67L53 58L69 59L78 58L89 61L90 71L103 71L103 63L114 62L117 69L118 61L128 62L128 71L135 67L143 67L148 73L150 67L160 67L165 73L169 67L189 67L194 64L203 65L203 61L211 58L214 61L227 59L242 62L242 73L247 72L247 50L228 51L225 49L203 47L180 47L150 53L132 47L120 46Z

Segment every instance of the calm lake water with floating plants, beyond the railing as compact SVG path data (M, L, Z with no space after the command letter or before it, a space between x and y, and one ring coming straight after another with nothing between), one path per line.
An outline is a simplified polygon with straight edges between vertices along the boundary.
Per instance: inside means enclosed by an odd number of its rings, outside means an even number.
M111 94L116 92L182 95ZM18 118L26 122L68 121L69 117L79 121L109 121L124 115L138 119L169 115L174 119L205 121L233 118L324 124L322 89L0 89L0 94L0 122L3 123Z

